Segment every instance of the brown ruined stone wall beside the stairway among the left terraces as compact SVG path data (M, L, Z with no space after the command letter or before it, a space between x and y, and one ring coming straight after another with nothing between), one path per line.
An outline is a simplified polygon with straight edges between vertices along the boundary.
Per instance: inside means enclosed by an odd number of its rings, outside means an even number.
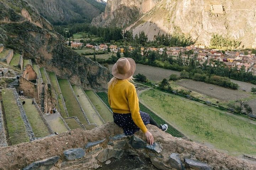
M27 79L20 77L20 90L23 90L25 96L32 97L39 103L38 97L38 86L36 84L31 83Z

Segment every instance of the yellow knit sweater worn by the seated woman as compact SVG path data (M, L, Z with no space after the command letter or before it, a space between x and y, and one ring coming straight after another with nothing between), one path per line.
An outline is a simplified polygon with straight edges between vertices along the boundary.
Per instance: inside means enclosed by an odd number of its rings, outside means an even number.
M108 88L108 103L114 113L131 113L134 123L145 133L148 129L139 113L139 99L135 86L128 80L119 80Z

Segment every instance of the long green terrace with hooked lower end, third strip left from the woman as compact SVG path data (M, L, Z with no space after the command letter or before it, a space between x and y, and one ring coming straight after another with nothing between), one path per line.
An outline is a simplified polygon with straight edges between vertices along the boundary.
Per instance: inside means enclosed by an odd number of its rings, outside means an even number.
M75 96L69 86L68 80L66 79L58 79L60 90L62 91L62 95L65 100L66 108L68 110L69 116L76 116L80 122L85 126L86 129L93 129L94 125L89 125L82 110L79 107L78 102L75 99Z

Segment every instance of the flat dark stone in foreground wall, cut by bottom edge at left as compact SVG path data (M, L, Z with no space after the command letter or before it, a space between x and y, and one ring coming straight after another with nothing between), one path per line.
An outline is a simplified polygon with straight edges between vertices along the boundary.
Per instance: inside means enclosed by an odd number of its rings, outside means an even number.
M23 168L23 170L48 170L53 167L54 164L59 160L59 156L51 157L44 160L39 160L37 162L33 162L32 164Z

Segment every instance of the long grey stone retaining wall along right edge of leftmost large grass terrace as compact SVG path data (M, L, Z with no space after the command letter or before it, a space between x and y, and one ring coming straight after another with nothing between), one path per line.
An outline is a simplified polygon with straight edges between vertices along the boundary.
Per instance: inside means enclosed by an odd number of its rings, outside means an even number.
M30 125L30 123L28 121L26 112L25 112L25 110L24 110L24 108L23 108L23 106L21 104L21 101L20 101L20 99L18 97L18 93L17 93L15 88L11 88L11 90L14 93L14 97L15 97L15 100L17 102L17 106L20 109L21 118L22 118L22 120L23 120L23 122L25 124L28 137L30 138L30 141L33 141L35 139L34 132L33 132L32 128L31 128L31 125Z

